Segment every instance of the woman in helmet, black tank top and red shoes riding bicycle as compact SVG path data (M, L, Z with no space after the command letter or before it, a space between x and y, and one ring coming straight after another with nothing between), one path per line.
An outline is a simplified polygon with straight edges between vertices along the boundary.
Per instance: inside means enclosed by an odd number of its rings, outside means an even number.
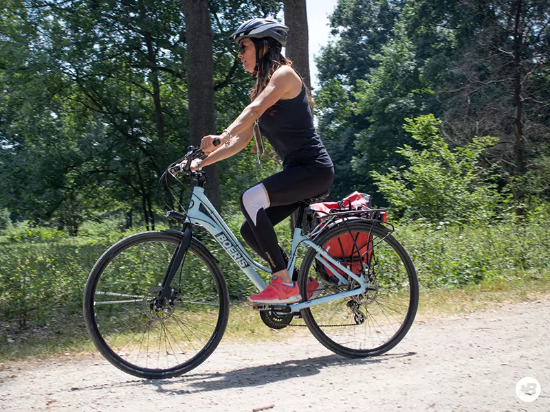
M287 258L278 244L274 225L290 216L299 201L327 192L334 179L333 163L314 127L305 84L292 69L292 62L281 54L287 32L288 27L277 21L251 19L230 36L240 47L239 58L245 70L256 78L252 103L221 135L202 138L201 148L208 157L191 165L193 170L200 170L243 150L252 139L256 120L283 161L282 172L241 195L246 218L241 235L270 264L273 274L265 290L248 298L250 304L300 301L298 285L287 271ZM214 139L223 144L214 146ZM312 281L311 290L316 288L317 282Z

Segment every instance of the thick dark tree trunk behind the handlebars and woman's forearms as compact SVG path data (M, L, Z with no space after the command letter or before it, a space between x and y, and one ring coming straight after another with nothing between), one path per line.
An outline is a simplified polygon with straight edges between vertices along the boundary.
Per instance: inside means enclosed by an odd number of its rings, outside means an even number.
M199 146L201 138L215 132L214 124L214 59L207 0L181 0L186 24L187 87L189 98L189 139ZM217 165L205 168L208 173L206 193L220 209L219 172Z

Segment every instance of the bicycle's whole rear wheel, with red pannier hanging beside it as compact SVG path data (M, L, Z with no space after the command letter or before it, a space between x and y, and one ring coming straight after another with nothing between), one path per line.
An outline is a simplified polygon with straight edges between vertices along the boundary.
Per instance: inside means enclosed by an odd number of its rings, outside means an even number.
M369 220L342 222L322 233L316 244L354 274L369 279L370 286L361 295L301 310L311 333L329 350L351 358L391 350L408 332L419 301L415 266L404 247L388 229ZM307 290L310 277L320 286L309 299L358 288L344 272L322 264L312 248L300 268L300 290Z

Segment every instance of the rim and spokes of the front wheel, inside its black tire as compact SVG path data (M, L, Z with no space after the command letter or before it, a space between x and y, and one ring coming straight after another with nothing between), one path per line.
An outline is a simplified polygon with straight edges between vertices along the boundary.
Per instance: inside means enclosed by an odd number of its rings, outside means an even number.
M118 251L96 282L94 323L111 356L132 369L165 372L192 363L221 322L219 285L190 248L172 282L158 293L175 240L135 242Z

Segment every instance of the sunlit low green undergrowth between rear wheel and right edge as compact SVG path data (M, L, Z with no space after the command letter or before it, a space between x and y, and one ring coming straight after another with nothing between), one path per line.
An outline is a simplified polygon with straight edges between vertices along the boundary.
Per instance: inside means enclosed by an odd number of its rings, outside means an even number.
M415 263L421 288L538 279L550 268L549 211L537 209L522 221L408 224L397 227L396 236Z

